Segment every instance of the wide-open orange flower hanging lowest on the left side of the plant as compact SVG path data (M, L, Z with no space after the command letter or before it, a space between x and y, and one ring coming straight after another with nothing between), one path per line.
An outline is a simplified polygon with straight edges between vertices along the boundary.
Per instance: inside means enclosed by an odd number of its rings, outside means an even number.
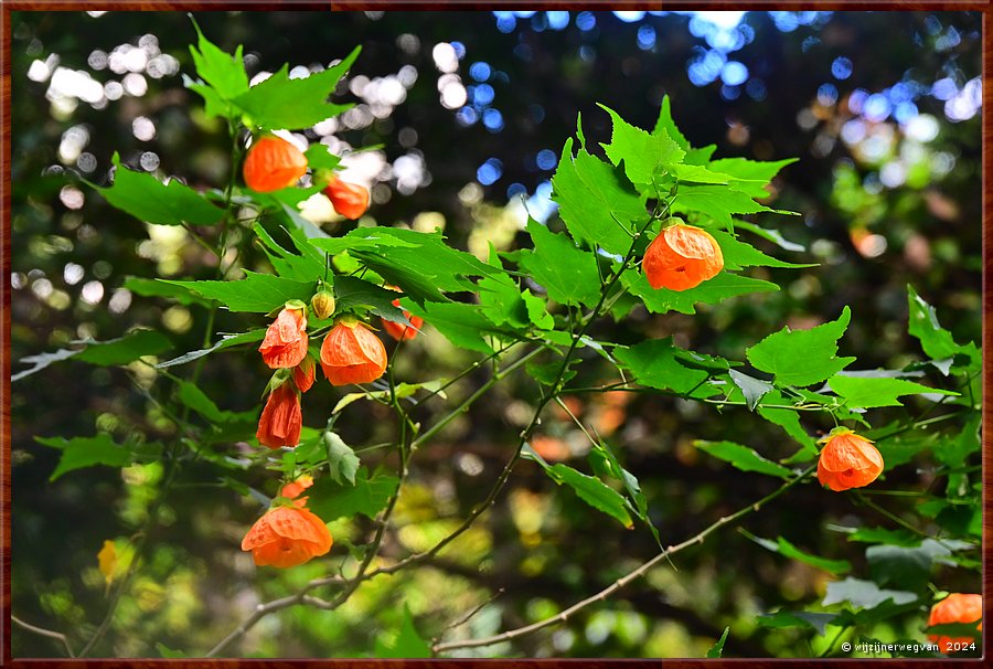
M258 566L297 566L331 550L328 525L300 507L276 507L255 521L242 550L252 551Z

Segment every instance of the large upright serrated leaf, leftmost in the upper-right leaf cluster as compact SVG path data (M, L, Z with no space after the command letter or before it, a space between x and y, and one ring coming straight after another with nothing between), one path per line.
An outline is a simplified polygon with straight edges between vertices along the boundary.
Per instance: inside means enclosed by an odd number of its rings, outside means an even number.
M641 199L627 190L606 162L566 140L552 178L553 200L569 234L591 248L624 255L631 247L632 221L648 221Z

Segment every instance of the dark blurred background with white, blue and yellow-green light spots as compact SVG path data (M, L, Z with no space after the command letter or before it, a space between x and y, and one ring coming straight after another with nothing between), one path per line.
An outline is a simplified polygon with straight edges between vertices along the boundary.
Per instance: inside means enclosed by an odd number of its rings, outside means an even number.
M212 258L182 230L140 224L82 183L108 182L111 155L125 163L223 184L226 129L206 119L183 87L195 40L184 13L13 12L12 326L14 371L24 355L72 340L110 339L142 325L167 333L175 352L201 348L204 314L131 295L127 276L206 278ZM591 146L609 139L601 103L651 127L664 94L694 146L717 156L799 157L777 179L777 208L800 217L766 219L787 248L764 248L820 266L768 269L782 290L702 307L693 317L636 309L602 323L613 341L673 334L694 350L741 358L783 325L811 327L853 311L841 354L858 369L899 368L921 353L906 332L906 286L936 305L958 341L981 327L981 15L968 12L212 12L196 15L228 52L245 45L249 75L288 62L298 75L325 67L355 44L362 55L338 98L359 103L309 131L348 157L351 180L373 188L378 224L445 229L457 246L485 254L488 242L522 241L524 212L554 220L549 179L577 117ZM348 230L327 204L308 215L329 232ZM245 267L265 267L248 254ZM218 318L217 331L259 327ZM437 333L418 338L398 367L404 378L451 374L472 355ZM577 383L607 375L595 360ZM250 351L209 360L203 389L222 408L257 406L265 370ZM449 393L458 402L485 374ZM130 370L58 363L12 385L13 580L20 618L86 639L107 607L96 553L125 545L159 495L162 467L93 468L49 482L58 453L35 435L170 437L148 395L168 387L140 365ZM481 499L513 448L536 400L524 376L452 423L417 454L387 555L423 549ZM305 415L327 414L340 393L306 397ZM312 408L308 408L312 407ZM375 408L372 418L377 417ZM437 406L441 411L442 406ZM694 438L728 438L784 456L775 426L744 412L634 394L577 399L573 408L622 453L642 481L664 543L675 543L771 490L696 452ZM430 420L428 413L425 420ZM875 412L874 424L887 421ZM323 420L312 427L320 427ZM830 428L820 420L813 433ZM359 448L388 437L375 420L339 424ZM381 432L381 431L386 432ZM581 458L585 437L562 413L544 422L545 447ZM375 466L382 449L362 454ZM927 484L929 460L887 478L888 488ZM274 475L248 482L274 493ZM899 499L893 508L899 511ZM106 640L106 656L158 656L157 646L202 654L260 601L291 592L325 565L257 571L238 551L260 512L252 497L206 465L183 469L153 528L152 550ZM864 562L829 523L866 517L843 496L814 486L789 503L749 518L759 537L788 532L802 549ZM369 523L340 521L335 538L364 541ZM409 574L373 581L339 612L296 607L266 618L239 645L246 656L361 657L399 626L406 604L430 638L447 623L505 592L463 631L485 635L543 618L604 587L656 552L651 535L605 522L523 463L478 529ZM805 656L823 637L770 630L756 616L802 608L823 596L828 574L791 562L734 530L719 532L569 624L480 655L700 657L732 627L728 656ZM979 592L974 573L947 570L942 587ZM908 624L909 625L909 624ZM919 625L891 636L921 638ZM882 633L884 636L887 630ZM51 639L13 629L14 656L58 655ZM469 655L469 652L467 652Z

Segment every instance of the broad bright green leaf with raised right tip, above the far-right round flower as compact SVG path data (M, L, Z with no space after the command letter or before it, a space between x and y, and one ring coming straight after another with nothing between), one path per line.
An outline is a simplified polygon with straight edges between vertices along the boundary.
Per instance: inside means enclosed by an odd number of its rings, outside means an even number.
M837 340L845 333L852 315L848 307L837 320L810 330L784 327L746 349L756 369L775 374L777 385L811 385L825 381L855 361L837 358Z

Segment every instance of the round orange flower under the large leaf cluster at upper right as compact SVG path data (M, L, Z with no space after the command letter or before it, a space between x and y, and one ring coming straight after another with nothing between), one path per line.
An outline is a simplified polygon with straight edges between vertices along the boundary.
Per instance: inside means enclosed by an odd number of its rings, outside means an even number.
M724 255L706 231L676 223L652 240L642 267L652 288L687 290L717 276L724 269Z

